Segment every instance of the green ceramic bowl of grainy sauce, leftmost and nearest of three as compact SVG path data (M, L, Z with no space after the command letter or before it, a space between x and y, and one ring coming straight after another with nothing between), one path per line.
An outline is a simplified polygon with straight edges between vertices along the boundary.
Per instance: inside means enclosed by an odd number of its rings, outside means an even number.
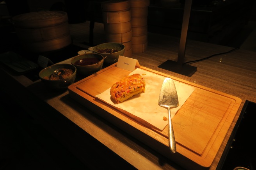
M66 82L50 79L50 76L57 69L64 69L66 72L63 74L63 78ZM73 71L73 74L70 74L70 71ZM48 66L39 72L39 77L41 81L45 84L46 87L54 90L66 90L68 86L73 84L76 78L76 67L71 64L55 64ZM55 78L56 79L56 78Z

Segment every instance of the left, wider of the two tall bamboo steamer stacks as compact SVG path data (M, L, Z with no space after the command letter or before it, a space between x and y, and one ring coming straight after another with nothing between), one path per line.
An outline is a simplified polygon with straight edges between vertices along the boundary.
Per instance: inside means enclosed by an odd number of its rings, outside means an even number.
M104 30L108 42L124 44L124 56L132 57L132 24L130 0L101 3Z

